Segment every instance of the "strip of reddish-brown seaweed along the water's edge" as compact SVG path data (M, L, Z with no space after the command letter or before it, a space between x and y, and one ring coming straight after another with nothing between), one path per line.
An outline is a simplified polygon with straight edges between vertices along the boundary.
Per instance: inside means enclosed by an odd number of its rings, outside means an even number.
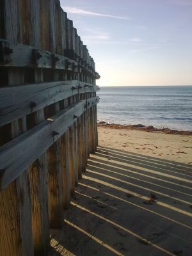
M192 135L192 131L181 131L176 129L170 129L166 127L156 128L152 125L122 125L122 124L108 124L107 122L101 121L97 123L98 127L111 128L111 129L124 129L124 130L136 130L136 131L145 131L145 132L159 132L164 134L179 134L179 135Z

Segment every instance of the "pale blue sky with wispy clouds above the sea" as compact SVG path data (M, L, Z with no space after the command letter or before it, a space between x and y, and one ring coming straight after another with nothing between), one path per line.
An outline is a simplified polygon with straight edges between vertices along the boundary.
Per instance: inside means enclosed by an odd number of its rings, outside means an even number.
M192 0L60 0L100 86L191 85Z

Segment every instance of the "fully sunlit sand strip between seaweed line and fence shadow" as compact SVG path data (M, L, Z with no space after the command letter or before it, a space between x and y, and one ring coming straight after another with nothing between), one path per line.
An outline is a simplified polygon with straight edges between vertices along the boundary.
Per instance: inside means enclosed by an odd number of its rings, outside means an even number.
M192 164L192 135L99 127L99 145Z

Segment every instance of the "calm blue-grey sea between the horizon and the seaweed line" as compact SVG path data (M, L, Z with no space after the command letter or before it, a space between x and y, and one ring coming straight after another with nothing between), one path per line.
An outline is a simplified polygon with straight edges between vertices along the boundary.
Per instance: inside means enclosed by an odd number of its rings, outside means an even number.
M192 131L192 86L100 86L98 121Z

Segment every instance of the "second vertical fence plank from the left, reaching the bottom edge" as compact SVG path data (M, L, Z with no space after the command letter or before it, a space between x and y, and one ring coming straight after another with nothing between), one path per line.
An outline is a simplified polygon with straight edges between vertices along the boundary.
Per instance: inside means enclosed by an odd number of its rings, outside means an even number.
M29 19L30 19L30 38L31 46L49 49L48 36L45 33L49 29L48 11L44 7L46 1L30 0L29 1ZM49 40L48 40L49 41ZM44 72L35 70L34 80L36 83L44 81ZM44 109L36 111L34 115L28 116L28 128L31 124L40 124L45 120ZM48 163L47 153L36 159L35 163L29 166L29 175L31 183L31 198L33 203L33 241L35 255L45 255L49 246L49 215L47 200L47 183L48 183Z

